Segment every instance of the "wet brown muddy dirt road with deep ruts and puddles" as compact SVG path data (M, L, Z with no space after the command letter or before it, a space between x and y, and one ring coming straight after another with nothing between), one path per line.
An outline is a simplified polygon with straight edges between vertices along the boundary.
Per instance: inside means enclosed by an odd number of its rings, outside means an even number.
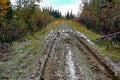
M120 69L66 23L51 30L45 40L33 80L120 80Z

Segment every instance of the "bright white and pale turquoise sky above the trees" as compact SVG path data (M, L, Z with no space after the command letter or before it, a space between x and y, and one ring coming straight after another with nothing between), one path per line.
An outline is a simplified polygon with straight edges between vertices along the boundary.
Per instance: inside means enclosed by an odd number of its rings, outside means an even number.
M15 0L11 0L14 4ZM40 7L52 7L53 9L59 9L62 15L65 15L68 11L77 15L79 11L79 5L81 0L42 0Z

